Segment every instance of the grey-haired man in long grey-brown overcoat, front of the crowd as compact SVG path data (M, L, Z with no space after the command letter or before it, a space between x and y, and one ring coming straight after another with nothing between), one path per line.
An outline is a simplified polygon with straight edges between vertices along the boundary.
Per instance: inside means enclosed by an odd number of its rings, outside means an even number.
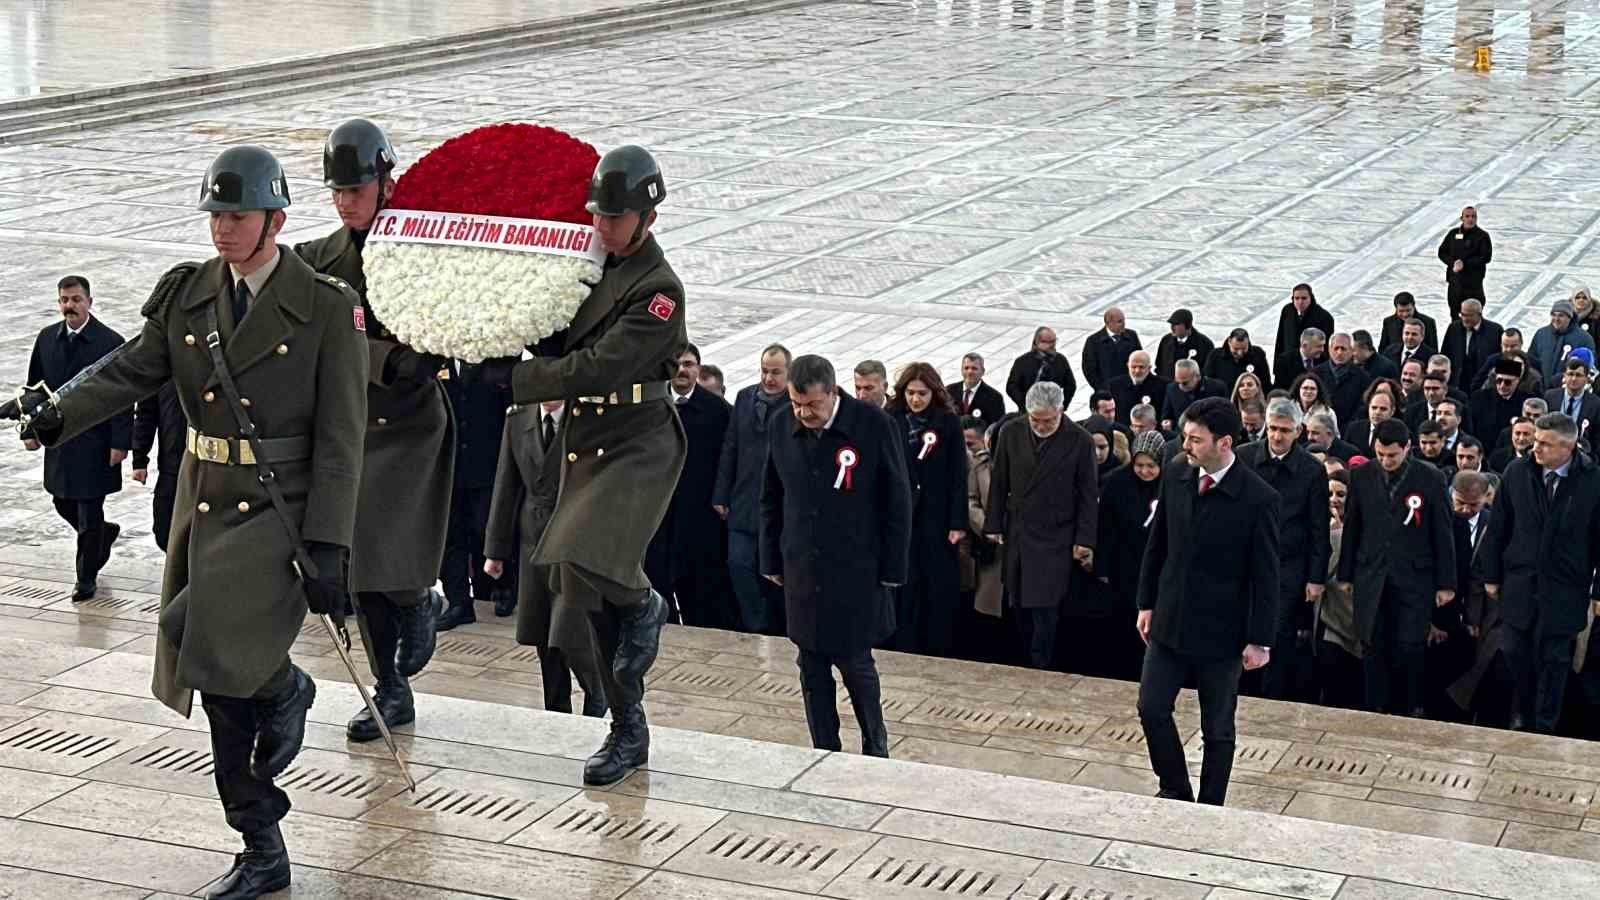
M1021 658L1038 669L1054 658L1072 565L1093 572L1099 527L1094 442L1064 418L1066 404L1061 386L1040 381L1024 396L1027 416L1000 428L984 520L984 536L1005 556L1005 617Z

